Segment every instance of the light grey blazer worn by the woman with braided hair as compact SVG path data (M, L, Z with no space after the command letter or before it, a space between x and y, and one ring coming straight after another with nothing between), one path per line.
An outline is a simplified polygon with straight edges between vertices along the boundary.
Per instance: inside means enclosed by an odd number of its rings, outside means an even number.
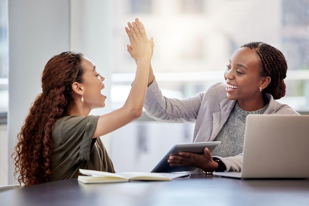
M270 94L264 95L270 101L264 114L299 114L290 106L275 101ZM162 96L154 79L147 89L144 108L148 116L158 121L195 123L193 142L202 142L214 140L235 103L235 100L227 98L225 83L215 83L207 91L179 100ZM234 157L217 158L226 165L227 171L241 171L242 153Z

